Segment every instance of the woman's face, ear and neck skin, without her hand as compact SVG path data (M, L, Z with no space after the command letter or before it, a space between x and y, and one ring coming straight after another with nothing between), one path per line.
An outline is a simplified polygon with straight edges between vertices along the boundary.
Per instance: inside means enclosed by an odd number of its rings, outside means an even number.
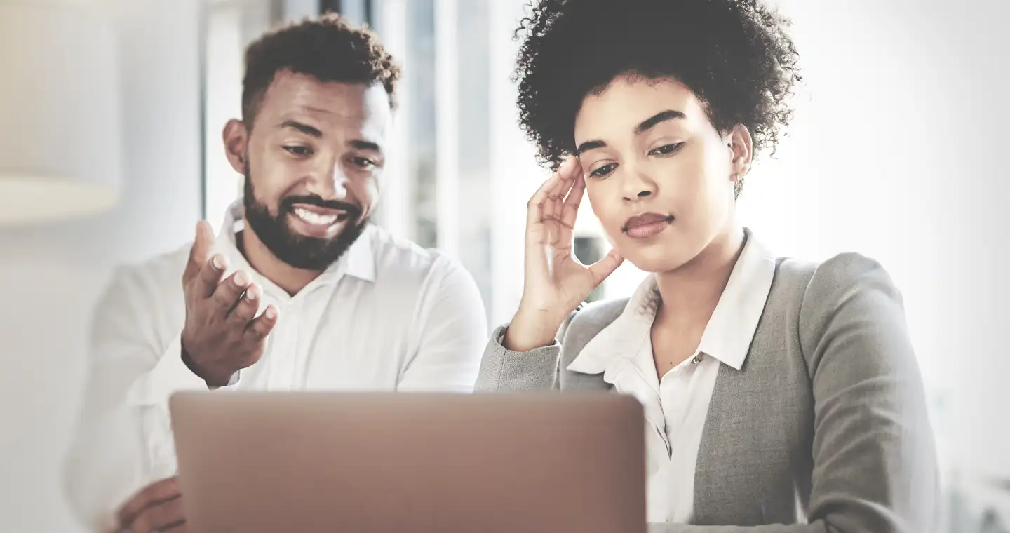
M679 82L621 77L584 100L575 138L593 213L622 256L656 276L652 344L663 377L694 355L742 248L733 188L750 167L750 134L716 130ZM632 238L625 222L645 212L675 220Z

